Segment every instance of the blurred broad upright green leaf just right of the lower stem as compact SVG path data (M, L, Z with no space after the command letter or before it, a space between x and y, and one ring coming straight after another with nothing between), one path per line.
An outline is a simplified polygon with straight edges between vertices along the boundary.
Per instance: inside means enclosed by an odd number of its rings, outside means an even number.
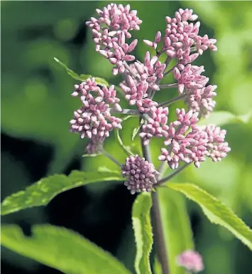
M161 187L157 191L169 270L172 274L184 274L185 270L176 264L176 257L194 248L185 199L172 189Z

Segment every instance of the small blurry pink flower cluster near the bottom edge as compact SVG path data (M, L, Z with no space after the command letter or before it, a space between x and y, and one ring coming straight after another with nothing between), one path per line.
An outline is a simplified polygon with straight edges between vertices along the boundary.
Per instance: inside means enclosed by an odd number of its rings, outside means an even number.
M197 251L184 251L177 256L177 264L194 273L204 270L202 256Z

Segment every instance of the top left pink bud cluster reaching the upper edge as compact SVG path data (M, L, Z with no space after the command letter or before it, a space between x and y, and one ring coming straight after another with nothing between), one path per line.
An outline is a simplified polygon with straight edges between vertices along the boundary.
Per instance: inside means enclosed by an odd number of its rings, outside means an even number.
M103 10L97 9L98 19L94 17L87 21L92 29L96 51L99 51L109 62L116 65L112 73L124 73L125 61L135 60L135 56L128 54L133 51L138 41L135 39L129 45L125 38L131 38L129 31L139 30L142 23L136 16L136 11L130 10L130 5L109 4Z

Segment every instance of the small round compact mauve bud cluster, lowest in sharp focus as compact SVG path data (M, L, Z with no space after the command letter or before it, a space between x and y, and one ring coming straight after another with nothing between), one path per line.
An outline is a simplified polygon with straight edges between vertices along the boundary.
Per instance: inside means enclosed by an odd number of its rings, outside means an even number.
M126 158L125 164L121 167L121 174L127 177L124 184L131 190L131 194L141 191L150 192L157 184L158 172L155 171L154 165L137 154Z

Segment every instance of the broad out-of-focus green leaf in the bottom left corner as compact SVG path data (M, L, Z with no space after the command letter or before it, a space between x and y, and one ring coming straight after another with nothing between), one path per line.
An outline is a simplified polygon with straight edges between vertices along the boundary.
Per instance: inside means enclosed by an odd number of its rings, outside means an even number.
M1 244L66 274L129 274L112 255L66 228L37 225L26 237L19 226L1 226Z

